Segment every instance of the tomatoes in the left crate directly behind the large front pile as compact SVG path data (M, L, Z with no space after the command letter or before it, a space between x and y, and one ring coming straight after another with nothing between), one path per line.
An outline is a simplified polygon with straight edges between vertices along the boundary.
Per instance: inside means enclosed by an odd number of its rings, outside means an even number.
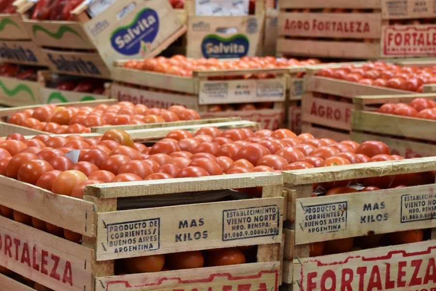
M136 125L200 119L192 109L174 105L165 109L148 108L128 101L96 107L63 107L55 104L25 109L8 118L8 122L56 134L87 133L91 127L105 125Z

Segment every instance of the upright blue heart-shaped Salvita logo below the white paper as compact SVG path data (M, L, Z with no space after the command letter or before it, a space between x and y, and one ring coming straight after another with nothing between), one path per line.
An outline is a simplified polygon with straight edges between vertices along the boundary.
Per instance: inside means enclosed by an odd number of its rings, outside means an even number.
M205 58L240 58L248 54L249 45L249 39L243 34L230 38L209 34L203 38L202 54Z

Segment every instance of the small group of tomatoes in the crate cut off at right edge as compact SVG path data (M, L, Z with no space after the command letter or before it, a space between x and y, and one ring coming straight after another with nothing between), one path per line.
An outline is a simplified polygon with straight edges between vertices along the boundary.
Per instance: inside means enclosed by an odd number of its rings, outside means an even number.
M377 112L436 120L436 102L425 98L415 98L409 104L383 104Z

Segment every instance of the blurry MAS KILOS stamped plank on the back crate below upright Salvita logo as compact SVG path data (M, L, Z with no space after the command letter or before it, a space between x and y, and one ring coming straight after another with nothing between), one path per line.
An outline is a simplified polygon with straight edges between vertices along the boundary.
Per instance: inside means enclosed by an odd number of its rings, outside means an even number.
M284 101L284 78L273 80L200 81L200 104Z

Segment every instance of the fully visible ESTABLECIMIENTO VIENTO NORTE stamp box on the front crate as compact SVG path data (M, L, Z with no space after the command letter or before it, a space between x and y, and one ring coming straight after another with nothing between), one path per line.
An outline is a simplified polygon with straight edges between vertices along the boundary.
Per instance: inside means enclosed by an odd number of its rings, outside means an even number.
M222 211L222 240L233 241L279 235L276 205Z

